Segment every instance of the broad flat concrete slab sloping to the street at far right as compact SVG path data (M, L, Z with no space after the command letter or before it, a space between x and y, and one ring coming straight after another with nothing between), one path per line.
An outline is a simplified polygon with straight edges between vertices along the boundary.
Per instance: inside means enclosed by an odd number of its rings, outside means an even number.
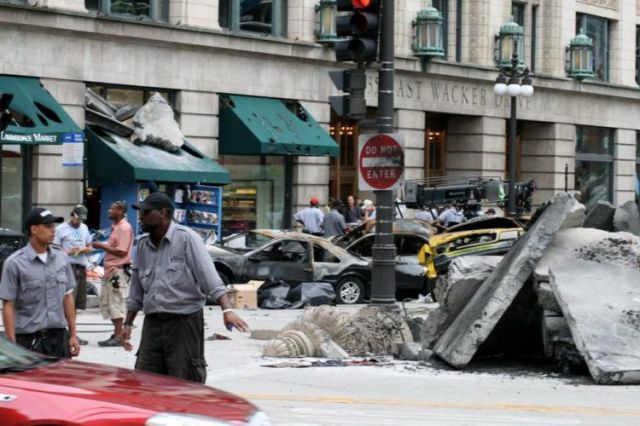
M640 272L569 260L551 286L598 384L640 383Z

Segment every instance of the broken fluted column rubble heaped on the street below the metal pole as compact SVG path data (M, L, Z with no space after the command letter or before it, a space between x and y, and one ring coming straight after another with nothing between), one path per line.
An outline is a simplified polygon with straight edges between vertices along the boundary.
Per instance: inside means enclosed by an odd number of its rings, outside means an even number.
M413 342L409 326L399 313L374 306L353 315L331 306L304 311L275 339L263 355L274 357L346 358L387 355L394 343Z

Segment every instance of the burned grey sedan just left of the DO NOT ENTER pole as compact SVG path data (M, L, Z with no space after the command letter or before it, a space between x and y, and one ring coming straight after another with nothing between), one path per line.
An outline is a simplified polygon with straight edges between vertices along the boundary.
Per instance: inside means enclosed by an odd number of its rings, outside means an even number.
M328 282L338 303L361 303L369 293L371 263L329 241L288 232L246 253L208 247L225 283L283 280L289 283Z

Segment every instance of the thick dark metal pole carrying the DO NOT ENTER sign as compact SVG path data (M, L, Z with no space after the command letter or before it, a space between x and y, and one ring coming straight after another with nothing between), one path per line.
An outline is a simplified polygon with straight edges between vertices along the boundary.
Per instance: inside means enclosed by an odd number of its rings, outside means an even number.
M394 0L382 0L380 71L378 74L378 133L393 133ZM376 195L376 239L373 245L371 303L391 309L395 304L396 247L393 243L393 191Z

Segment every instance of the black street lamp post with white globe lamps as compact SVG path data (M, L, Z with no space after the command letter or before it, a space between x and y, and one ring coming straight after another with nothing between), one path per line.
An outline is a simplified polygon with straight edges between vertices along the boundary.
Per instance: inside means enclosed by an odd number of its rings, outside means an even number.
M516 215L516 124L518 96L533 96L533 86L529 69L518 69L518 42L514 41L513 55L509 67L501 67L493 91L498 96L508 95L511 98L511 115L509 117L509 186L507 213Z

